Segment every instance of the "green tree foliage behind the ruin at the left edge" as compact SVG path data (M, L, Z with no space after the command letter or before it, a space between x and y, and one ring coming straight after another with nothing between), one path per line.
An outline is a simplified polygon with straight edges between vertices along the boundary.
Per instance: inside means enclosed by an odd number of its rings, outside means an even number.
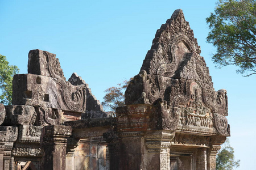
M18 67L9 65L6 57L0 54L0 103L11 104L13 76L18 73Z

